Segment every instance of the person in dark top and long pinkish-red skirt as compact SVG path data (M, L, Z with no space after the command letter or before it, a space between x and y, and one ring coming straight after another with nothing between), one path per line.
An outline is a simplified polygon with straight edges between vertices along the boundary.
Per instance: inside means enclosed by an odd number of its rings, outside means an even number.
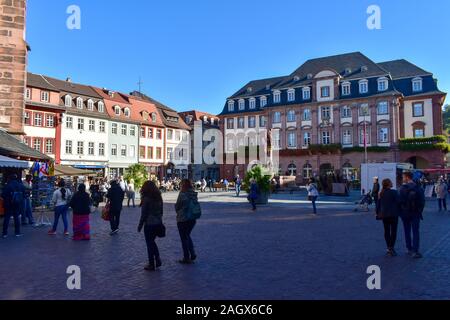
M91 240L89 215L91 214L92 200L89 197L89 193L86 192L84 184L79 185L78 192L73 195L69 206L73 210L73 240Z

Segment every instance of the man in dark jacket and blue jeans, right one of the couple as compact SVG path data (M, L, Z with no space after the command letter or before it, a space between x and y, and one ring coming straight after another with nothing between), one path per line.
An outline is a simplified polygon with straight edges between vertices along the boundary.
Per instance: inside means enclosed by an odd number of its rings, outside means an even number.
M411 257L419 259L422 258L419 253L420 221L423 220L425 194L423 189L414 183L411 172L403 173L403 183L400 188L400 206L401 218L405 228L406 247Z

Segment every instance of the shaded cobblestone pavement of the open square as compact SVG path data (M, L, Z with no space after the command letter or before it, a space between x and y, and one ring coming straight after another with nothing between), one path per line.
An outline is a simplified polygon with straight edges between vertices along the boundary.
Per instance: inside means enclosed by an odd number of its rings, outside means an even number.
M319 215L304 195L274 195L250 210L246 197L200 194L203 217L193 238L199 260L177 263L175 193L165 194L167 238L158 240L163 267L143 270L139 209L125 209L121 231L92 216L90 242L49 237L45 228L0 241L1 299L448 299L450 213L429 202L422 225L424 259L412 260L399 226L396 258L385 257L383 227L373 213L354 212L352 199L322 198ZM61 230L60 230L61 231ZM66 269L81 268L81 290L70 291ZM367 267L378 265L382 289L367 289Z

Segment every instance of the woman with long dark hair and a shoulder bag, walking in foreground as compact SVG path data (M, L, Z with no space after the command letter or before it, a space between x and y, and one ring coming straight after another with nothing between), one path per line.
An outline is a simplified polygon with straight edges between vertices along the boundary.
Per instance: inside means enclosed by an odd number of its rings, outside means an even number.
M163 199L161 192L154 182L147 181L141 189L141 219L138 226L138 232L141 232L144 228L148 253L148 265L144 269L147 271L154 271L162 265L159 249L155 242L156 237L164 235L165 227L162 217Z

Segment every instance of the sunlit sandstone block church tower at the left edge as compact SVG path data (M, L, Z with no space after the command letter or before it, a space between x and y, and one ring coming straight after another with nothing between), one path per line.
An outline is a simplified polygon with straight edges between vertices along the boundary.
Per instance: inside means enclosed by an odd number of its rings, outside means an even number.
M0 0L0 129L23 133L26 0Z

